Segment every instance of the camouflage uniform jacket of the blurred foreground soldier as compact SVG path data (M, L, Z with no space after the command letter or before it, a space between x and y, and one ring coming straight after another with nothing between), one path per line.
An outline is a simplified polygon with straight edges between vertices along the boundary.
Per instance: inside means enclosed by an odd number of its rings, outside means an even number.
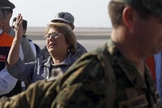
M78 59L58 80L32 84L26 92L12 98L1 98L1 108L162 108L154 90L150 71L145 66L145 79L116 48L112 40ZM88 54L90 56L88 56ZM105 55L116 80L105 77ZM114 84L115 90L108 86ZM109 91L109 92L108 92ZM114 96L113 107L108 102ZM112 98L113 99L113 98Z

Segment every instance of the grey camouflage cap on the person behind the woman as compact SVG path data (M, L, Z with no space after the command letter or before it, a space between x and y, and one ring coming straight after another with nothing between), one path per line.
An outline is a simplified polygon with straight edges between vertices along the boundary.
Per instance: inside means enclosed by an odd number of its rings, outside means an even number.
M59 12L55 15L55 18L51 20L51 22L56 22L56 21L63 21L70 24L74 24L74 17L72 14L68 12Z

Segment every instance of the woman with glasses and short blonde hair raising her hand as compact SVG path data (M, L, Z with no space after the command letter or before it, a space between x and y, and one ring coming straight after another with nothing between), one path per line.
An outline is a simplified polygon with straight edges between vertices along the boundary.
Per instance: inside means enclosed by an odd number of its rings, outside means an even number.
M72 56L76 51L75 34L63 23L48 25L45 38L50 57L41 63L38 63L39 60L23 63L19 59L18 52L22 35L22 16L19 14L16 20L15 38L7 59L7 70L21 81L32 83L37 80L48 79L52 74L57 78L76 61ZM58 69L61 72L57 71Z

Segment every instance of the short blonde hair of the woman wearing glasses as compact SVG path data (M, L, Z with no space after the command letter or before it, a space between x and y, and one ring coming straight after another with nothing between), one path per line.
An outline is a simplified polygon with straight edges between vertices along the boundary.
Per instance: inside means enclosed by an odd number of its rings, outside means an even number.
M53 28L56 29L58 32L62 33L65 36L65 41L67 42L67 44L69 45L69 51L72 54L75 54L76 52L76 45L77 45L77 41L76 41L76 37L74 32L72 31L72 29L64 24L64 23L50 23L48 24L48 28L46 29L46 34L49 32L49 29Z

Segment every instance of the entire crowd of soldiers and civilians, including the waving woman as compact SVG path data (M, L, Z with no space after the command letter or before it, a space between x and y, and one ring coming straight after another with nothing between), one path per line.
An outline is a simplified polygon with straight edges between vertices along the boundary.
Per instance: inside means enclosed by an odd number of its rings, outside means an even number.
M160 0L110 0L111 37L90 52L76 40L71 13L56 13L40 49L23 15L9 25L15 5L0 7L0 108L162 108Z

